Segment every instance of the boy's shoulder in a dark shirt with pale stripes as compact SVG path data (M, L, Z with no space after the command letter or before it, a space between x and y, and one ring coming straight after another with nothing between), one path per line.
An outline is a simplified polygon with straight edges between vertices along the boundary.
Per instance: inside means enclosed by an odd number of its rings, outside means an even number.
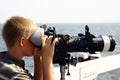
M0 78L4 78L5 80L11 78L25 78L29 80L30 76L24 68L24 62L17 61L9 56L7 52L0 52Z

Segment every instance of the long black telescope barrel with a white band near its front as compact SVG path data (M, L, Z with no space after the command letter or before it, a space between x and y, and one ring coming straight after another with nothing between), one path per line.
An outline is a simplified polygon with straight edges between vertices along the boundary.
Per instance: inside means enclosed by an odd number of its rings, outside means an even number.
M92 42L88 41L85 36L73 36L67 42L60 38L56 43L55 53L62 55L65 52L108 52L113 51L115 45L112 36L95 36L92 38Z

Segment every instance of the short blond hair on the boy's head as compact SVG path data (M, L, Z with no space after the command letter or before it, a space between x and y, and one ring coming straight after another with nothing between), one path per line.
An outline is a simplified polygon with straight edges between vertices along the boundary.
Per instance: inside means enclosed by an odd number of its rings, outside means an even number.
M7 47L13 47L19 37L24 36L29 39L36 29L37 25L30 19L13 16L3 25L2 36Z

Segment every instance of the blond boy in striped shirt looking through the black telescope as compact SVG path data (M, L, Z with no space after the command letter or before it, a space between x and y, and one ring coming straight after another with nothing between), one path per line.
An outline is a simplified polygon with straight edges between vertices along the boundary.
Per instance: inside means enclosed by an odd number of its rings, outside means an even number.
M3 26L2 36L7 45L6 52L0 53L0 80L54 80L52 59L56 39L44 35L41 29L42 48L30 40L38 27L31 20L13 16ZM24 56L34 58L34 77L25 69Z

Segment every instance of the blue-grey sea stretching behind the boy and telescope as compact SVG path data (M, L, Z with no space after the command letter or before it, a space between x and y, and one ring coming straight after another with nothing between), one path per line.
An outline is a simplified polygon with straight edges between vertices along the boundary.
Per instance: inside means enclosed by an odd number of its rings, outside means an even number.
M38 26L43 24L37 23ZM47 23L47 28L55 27L57 34L69 34L70 36L78 36L79 33L85 34L85 26L88 25L89 32L93 35L102 36L113 36L116 42L116 47L113 52L103 52L102 57L120 54L120 23ZM2 27L0 24L0 52L6 51L6 45L2 38ZM76 55L76 53L72 53ZM24 57L26 68L30 73L34 71L33 58ZM59 65L54 65L59 67ZM66 79L67 80L67 79ZM97 80L115 80L115 76L112 71L105 73L104 75L98 76Z

